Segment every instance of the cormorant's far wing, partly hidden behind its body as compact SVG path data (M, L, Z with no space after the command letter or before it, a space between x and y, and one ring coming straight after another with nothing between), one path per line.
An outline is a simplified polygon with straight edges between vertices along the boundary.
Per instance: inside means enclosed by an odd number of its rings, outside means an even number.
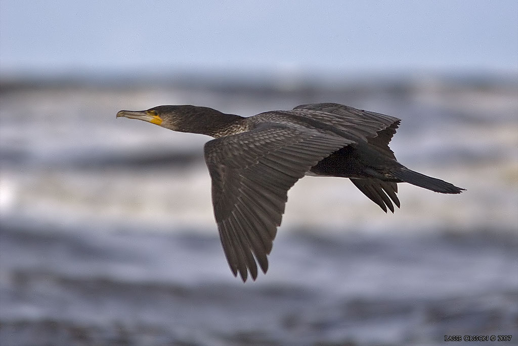
M385 155L396 159L389 148L389 142L396 133L400 119L389 115L368 112L338 103L312 103L296 106L295 109L307 109L304 116L333 124L338 129L363 135L367 143L375 146ZM394 204L399 207L397 184L383 182L380 179L351 179L353 184L370 200L378 204L385 213L387 207L394 212Z

